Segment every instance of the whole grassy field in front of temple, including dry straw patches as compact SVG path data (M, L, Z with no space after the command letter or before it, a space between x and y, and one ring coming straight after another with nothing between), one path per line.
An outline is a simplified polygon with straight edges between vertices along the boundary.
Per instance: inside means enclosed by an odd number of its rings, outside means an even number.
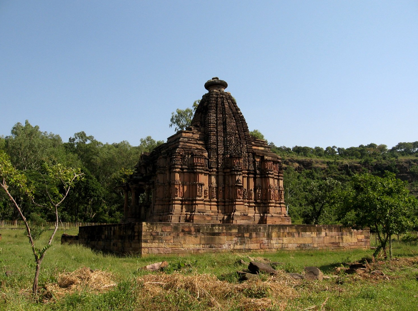
M346 275L341 267L371 258L372 251L117 257L61 245L59 232L41 267L36 302L34 260L24 231L0 233L0 310L418 310L418 246L398 241L394 259L370 265L382 273ZM236 272L246 268L239 259L249 261L248 256L275 262L280 273L239 282ZM162 260L169 262L164 272L140 269ZM303 273L304 266L316 266L330 278L294 280L285 273ZM81 283L66 287L76 276Z

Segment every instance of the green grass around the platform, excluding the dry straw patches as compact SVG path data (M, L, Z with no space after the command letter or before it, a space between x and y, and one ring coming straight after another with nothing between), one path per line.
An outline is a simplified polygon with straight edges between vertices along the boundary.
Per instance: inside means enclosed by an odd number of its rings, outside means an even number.
M245 269L239 259L249 261L252 258L266 258L276 264L277 269L286 272L302 273L304 266L317 266L325 275L335 274L335 268L346 266L361 258L371 258L373 250L345 251L278 251L260 254L204 254L184 256L149 256L140 258L135 255L118 257L92 251L80 245L61 245L58 232L53 246L48 250L41 267L40 285L54 283L58 274L71 272L86 266L91 269L108 270L115 275L117 288L97 294L83 291L67 295L56 302L37 303L30 295L34 274L34 260L30 245L23 230L0 229L0 310L10 311L84 311L84 310L209 310L216 304L208 297L196 298L187 289L166 291L155 297L145 297L143 284L136 281L147 273L140 270L147 264L167 260L169 267L165 273L181 275L212 274L218 279L238 283L236 272ZM43 233L38 247L46 242L48 233ZM77 230L66 231L76 234ZM372 238L372 241L374 239ZM411 258L409 264L401 261L382 261L379 269L387 278L365 278L355 275L339 275L322 282L301 281L295 285L296 297L289 298L285 310L417 310L418 306L418 246L393 241L394 256ZM6 271L11 275L5 276ZM263 276L266 280L267 276ZM245 293L226 297L222 310L243 310L242 299L268 299L268 290L254 285ZM219 308L218 308L219 309ZM245 309L248 310L248 309ZM271 306L266 310L280 310Z

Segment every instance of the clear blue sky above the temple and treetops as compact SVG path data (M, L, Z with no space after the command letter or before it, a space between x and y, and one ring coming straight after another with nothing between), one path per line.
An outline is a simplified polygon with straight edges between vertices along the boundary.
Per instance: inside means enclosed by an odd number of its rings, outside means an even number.
M0 135L166 140L215 76L277 146L418 141L418 1L0 0Z

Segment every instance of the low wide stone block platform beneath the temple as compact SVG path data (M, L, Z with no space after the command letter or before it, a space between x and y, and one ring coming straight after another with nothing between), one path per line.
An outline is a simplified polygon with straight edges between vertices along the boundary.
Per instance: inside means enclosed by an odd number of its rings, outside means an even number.
M272 252L370 247L369 230L334 225L126 223L79 228L78 242L114 253Z

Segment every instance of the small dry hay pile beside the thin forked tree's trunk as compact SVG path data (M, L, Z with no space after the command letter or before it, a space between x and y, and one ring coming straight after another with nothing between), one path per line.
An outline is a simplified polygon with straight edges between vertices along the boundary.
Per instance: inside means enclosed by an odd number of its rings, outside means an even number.
M57 283L46 284L44 297L46 300L50 300L83 290L101 293L116 286L113 279L114 277L109 271L82 267L73 272L59 274Z

